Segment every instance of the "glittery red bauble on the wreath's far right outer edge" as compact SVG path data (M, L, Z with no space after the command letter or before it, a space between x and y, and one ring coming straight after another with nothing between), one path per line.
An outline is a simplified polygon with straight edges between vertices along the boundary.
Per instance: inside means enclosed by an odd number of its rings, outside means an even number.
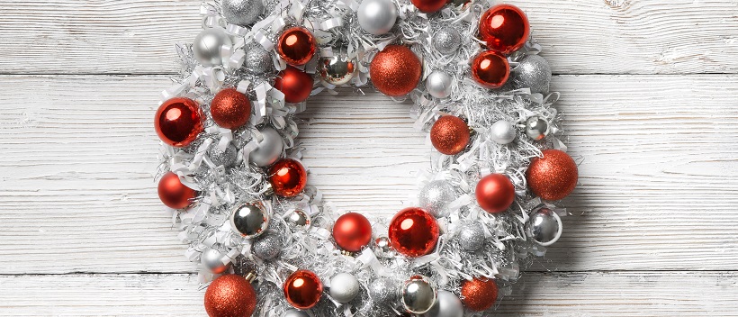
M545 149L543 158L531 160L527 183L534 194L545 200L559 200L572 194L577 186L577 163L566 152Z

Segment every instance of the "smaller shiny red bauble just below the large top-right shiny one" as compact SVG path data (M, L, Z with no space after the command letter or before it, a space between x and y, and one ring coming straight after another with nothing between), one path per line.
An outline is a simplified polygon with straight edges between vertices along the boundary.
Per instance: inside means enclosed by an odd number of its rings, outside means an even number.
M486 88L500 88L510 77L508 59L494 50L479 53L472 61L472 77Z

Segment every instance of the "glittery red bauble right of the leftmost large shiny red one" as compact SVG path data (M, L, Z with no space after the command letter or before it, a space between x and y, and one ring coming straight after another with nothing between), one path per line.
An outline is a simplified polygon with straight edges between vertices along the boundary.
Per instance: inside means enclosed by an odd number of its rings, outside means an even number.
M236 129L251 116L251 102L235 88L223 89L212 98L210 113L212 121L221 127Z

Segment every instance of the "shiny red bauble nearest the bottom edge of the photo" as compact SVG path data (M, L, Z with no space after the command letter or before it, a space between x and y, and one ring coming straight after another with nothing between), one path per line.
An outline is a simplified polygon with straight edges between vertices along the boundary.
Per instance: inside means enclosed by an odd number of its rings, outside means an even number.
M284 281L284 298L297 309L310 309L320 301L323 284L311 271L301 269Z

